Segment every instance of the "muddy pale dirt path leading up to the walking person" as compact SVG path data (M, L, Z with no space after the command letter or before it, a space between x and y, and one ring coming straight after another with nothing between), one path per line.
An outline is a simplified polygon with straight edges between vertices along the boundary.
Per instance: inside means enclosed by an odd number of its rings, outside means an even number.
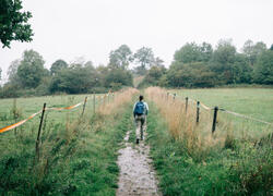
M143 142L132 147L128 142L130 132L124 137L126 148L119 150L118 166L120 168L117 196L141 195L161 196L157 188L155 172L149 158L149 146Z

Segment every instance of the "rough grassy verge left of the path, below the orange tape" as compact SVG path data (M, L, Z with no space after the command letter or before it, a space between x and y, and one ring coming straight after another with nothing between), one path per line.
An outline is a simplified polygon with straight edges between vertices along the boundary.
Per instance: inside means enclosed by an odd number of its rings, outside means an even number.
M115 195L117 151L131 125L131 108L117 106L111 114L48 123L38 162L35 130L1 135L0 195Z

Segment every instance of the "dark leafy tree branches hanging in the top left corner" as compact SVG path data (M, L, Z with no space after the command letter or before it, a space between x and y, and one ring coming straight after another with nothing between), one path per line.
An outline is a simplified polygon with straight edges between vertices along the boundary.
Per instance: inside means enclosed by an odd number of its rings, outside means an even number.
M10 47L12 40L31 41L33 32L27 24L31 12L22 11L21 0L0 0L0 40Z

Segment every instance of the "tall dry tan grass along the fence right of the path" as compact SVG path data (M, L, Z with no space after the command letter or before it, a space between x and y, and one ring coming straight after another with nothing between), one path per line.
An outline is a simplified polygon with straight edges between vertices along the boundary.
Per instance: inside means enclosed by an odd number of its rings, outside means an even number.
M178 97L167 96L167 91L159 87L150 87L145 90L147 98L154 101L167 121L173 137L186 146L191 155L204 155L215 145L225 145L230 140L232 131L228 123L219 123L217 132L212 135L213 112L200 108L200 120L197 123L197 105L189 100L186 112L186 102ZM227 137L228 135L228 137Z

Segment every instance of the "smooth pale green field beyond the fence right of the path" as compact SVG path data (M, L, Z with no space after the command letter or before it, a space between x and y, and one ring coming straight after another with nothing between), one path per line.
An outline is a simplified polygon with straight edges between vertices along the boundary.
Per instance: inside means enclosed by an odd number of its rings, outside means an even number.
M229 111L273 123L272 88L204 88L180 90L173 89L169 91L181 96L179 99L189 97L203 102L210 108L217 106ZM201 113L202 112L205 113L206 111L201 109ZM260 137L263 134L268 134L273 131L273 126L234 117L222 111L218 112L218 119L229 121L235 126L236 135L244 134Z

